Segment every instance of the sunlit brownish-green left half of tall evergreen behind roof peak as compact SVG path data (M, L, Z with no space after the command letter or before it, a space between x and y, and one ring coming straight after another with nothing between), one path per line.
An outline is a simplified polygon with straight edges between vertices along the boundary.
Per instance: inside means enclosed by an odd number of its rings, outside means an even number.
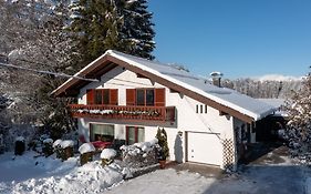
M117 17L114 1L80 0L72 10L73 21L69 28L77 41L75 50L83 63L89 63L110 48L118 49L118 29L122 19Z

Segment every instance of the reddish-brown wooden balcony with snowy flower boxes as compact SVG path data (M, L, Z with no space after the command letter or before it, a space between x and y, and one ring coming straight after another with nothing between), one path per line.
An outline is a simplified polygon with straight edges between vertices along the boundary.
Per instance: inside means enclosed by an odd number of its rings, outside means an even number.
M138 105L69 105L73 118L175 121L175 106L138 106Z

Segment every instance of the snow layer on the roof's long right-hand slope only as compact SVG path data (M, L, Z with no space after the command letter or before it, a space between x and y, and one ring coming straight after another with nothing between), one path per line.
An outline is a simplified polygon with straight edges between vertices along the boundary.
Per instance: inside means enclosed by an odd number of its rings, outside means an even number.
M227 88L218 88L210 83L206 83L204 79L190 74L187 71L178 70L174 67L162 64L145 60L142 58L124 54L117 51L107 51L106 54L121 59L132 65L136 65L153 74L159 75L166 80L169 80L178 85L190 89L208 99L211 99L222 105L232 108L246 115L260 120L273 112L273 106L260 102L248 95L243 95L235 90Z

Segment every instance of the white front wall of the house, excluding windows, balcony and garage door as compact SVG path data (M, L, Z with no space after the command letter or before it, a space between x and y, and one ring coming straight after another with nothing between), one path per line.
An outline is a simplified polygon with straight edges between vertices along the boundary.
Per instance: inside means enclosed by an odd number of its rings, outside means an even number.
M154 83L148 79L138 79L137 75L131 71L123 70L122 68L115 68L104 76L101 78L101 82L92 82L84 86L80 91L79 103L86 104L86 90L87 89L118 89L118 104L126 104L126 89L131 88L165 88L158 83ZM196 100L185 96L179 93L170 93L170 90L166 88L166 106L176 106L177 122L172 126L165 126L168 134L168 146L170 160L177 159L179 162L185 162L185 131L188 132L207 132L219 133L221 139L234 137L234 119L232 116L219 115L219 111L208 106L207 113L196 113L196 105L204 105ZM79 119L80 132L89 136L90 122L100 122L99 120ZM103 123L112 121L103 120ZM118 123L118 121L113 121ZM125 123L118 123L115 125L116 137L125 139ZM155 137L157 132L156 125L148 125L148 123L138 123L138 125L145 126L145 140L148 141ZM163 125L164 123L158 123ZM129 125L133 125L129 124ZM182 137L178 135L182 134ZM177 143L175 143L177 142ZM208 146L208 142L206 142ZM175 155L182 155L175 157Z

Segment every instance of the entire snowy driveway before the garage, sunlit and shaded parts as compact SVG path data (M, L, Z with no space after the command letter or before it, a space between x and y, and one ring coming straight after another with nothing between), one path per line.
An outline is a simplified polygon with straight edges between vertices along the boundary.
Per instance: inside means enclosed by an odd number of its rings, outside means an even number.
M108 194L309 194L302 166L247 166L221 180L173 169L156 171L112 187ZM311 185L310 185L311 186ZM309 188L309 192L311 190ZM310 193L311 194L311 193Z

